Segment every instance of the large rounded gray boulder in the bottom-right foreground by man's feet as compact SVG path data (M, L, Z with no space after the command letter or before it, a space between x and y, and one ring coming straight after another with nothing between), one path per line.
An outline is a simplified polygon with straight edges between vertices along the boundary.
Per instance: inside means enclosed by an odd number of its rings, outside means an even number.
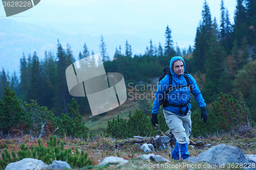
M227 163L253 163L252 160L246 160L244 153L237 147L228 144L219 144L211 147L205 152L200 153L197 157L189 157L186 161L190 163L208 162L209 164ZM256 168L251 168L256 169Z

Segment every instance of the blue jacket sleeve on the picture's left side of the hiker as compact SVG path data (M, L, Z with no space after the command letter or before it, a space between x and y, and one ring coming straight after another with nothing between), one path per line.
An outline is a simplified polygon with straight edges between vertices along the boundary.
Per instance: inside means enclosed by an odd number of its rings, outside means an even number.
M157 92L155 93L155 101L152 108L152 113L158 113L160 103L164 98L164 92L168 89L169 79L168 76L165 76L158 85Z

